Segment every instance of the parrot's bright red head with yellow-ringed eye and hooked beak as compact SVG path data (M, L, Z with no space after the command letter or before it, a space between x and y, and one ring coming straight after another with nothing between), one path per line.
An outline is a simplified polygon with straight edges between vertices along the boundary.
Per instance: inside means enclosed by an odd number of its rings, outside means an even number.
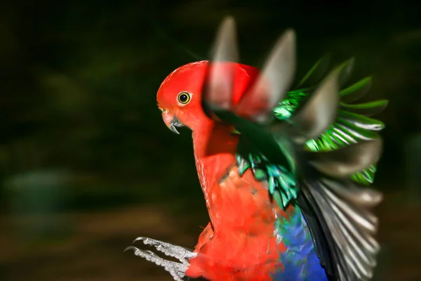
M208 70L208 61L201 60L178 67L163 80L156 95L163 122L171 131L176 126L187 126L199 131L213 122L201 105L201 91ZM233 103L238 102L250 79L258 74L255 67L236 64Z

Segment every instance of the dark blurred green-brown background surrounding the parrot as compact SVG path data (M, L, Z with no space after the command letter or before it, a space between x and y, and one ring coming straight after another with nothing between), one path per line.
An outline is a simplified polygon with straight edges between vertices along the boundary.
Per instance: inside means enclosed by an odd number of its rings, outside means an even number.
M156 90L207 58L224 15L260 66L287 27L298 77L356 55L366 100L387 98L375 280L421 280L421 14L416 1L1 1L0 280L171 280L123 249L140 235L192 248L208 222L189 131Z

